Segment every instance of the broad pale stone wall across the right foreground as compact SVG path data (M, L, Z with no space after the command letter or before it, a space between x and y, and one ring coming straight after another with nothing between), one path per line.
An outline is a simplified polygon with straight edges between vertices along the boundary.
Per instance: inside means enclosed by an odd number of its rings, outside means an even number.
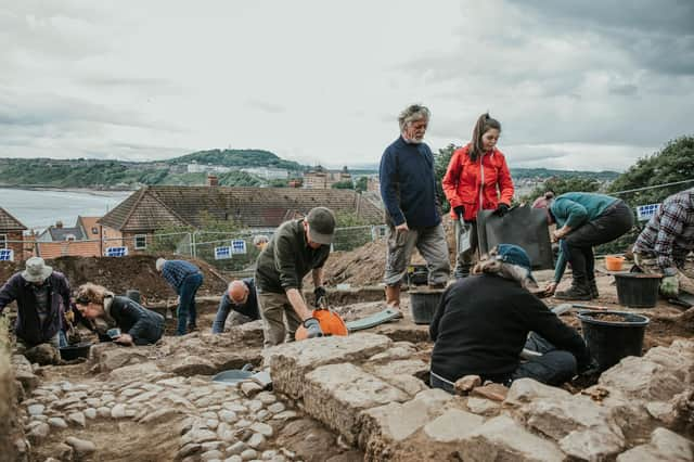
M452 396L417 378L415 351L363 333L264 356L274 389L365 460L694 460L694 342L626 358L577 395L525 378Z

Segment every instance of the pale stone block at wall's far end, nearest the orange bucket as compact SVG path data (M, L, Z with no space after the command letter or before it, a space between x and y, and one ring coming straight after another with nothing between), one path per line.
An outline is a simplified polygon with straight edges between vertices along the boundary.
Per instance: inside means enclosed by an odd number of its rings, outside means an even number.
M264 351L264 365L271 369L275 390L299 399L308 372L325 364L360 363L391 344L388 337L370 333L311 338L268 348Z

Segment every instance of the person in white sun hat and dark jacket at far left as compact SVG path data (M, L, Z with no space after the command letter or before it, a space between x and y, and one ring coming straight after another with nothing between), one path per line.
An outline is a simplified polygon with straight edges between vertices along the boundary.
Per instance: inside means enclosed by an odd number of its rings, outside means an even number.
M13 274L0 288L0 313L12 301L17 303L17 352L44 343L59 348L63 315L69 307L67 278L53 271L43 258L31 257L24 271Z

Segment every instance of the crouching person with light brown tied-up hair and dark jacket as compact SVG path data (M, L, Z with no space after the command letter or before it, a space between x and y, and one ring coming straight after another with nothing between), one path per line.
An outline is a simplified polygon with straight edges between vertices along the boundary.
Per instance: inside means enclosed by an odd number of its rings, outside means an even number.
M85 318L94 322L101 336L107 335L121 345L155 344L164 334L162 315L101 285L80 285L75 305Z

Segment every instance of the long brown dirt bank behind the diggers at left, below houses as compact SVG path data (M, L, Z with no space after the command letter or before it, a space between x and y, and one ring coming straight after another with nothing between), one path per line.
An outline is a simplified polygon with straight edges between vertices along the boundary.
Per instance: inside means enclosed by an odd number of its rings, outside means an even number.
M171 258L176 258L171 256ZM179 257L180 258L180 257ZM116 294L125 294L129 288L140 291L149 301L176 297L174 290L164 278L156 272L152 255L132 255L120 258L108 257L59 257L48 260L56 271L67 277L70 287L76 288L86 282L103 285ZM227 283L215 274L215 269L201 260L192 260L204 274L200 295L219 295L227 288ZM24 264L2 262L0 281L7 281L13 273L24 269Z

